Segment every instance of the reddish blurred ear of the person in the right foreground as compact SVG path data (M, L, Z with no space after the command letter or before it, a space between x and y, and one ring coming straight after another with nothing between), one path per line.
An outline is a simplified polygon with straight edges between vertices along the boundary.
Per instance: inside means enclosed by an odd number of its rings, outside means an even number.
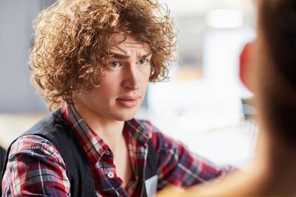
M239 59L239 76L245 87L253 92L253 87L251 86L251 75L253 66L253 42L248 43L244 46L240 59ZM254 93L254 92L253 92Z

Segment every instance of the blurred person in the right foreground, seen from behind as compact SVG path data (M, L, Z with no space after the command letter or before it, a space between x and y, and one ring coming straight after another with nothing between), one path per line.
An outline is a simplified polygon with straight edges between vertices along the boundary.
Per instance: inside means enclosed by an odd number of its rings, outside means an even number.
M157 197L296 196L296 0L257 0L257 39L243 50L241 79L255 93L259 136L246 172Z

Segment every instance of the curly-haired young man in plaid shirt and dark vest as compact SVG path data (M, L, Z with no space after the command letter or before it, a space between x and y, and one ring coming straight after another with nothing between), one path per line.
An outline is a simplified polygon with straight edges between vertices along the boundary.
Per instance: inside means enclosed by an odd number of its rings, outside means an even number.
M51 115L14 141L3 196L152 196L231 170L134 119L167 76L174 23L150 0L60 1L36 20L30 66Z

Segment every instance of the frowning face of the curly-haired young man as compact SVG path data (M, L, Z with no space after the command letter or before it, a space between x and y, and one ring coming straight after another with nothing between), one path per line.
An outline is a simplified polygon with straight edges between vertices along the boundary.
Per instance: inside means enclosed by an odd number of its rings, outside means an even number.
M117 39L118 35L114 35L113 41ZM87 94L74 93L74 104L104 119L127 121L135 116L145 97L151 51L144 43L127 36L124 42L111 47L110 54L101 86Z

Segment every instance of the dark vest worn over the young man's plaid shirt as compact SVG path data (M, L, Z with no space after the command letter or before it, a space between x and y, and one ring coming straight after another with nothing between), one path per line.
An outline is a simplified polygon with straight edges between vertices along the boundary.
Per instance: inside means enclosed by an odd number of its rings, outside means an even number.
M49 140L57 148L67 166L66 172L71 184L71 197L96 197L94 179L87 155L75 137L74 132L66 123L60 109L40 120L21 136L24 135L39 135ZM9 152L10 146L6 152L1 171L0 186L2 185L2 178L6 169ZM156 175L157 164L157 155L151 139L149 139L145 180ZM0 197L2 196L1 192ZM147 197L145 187L143 197Z

